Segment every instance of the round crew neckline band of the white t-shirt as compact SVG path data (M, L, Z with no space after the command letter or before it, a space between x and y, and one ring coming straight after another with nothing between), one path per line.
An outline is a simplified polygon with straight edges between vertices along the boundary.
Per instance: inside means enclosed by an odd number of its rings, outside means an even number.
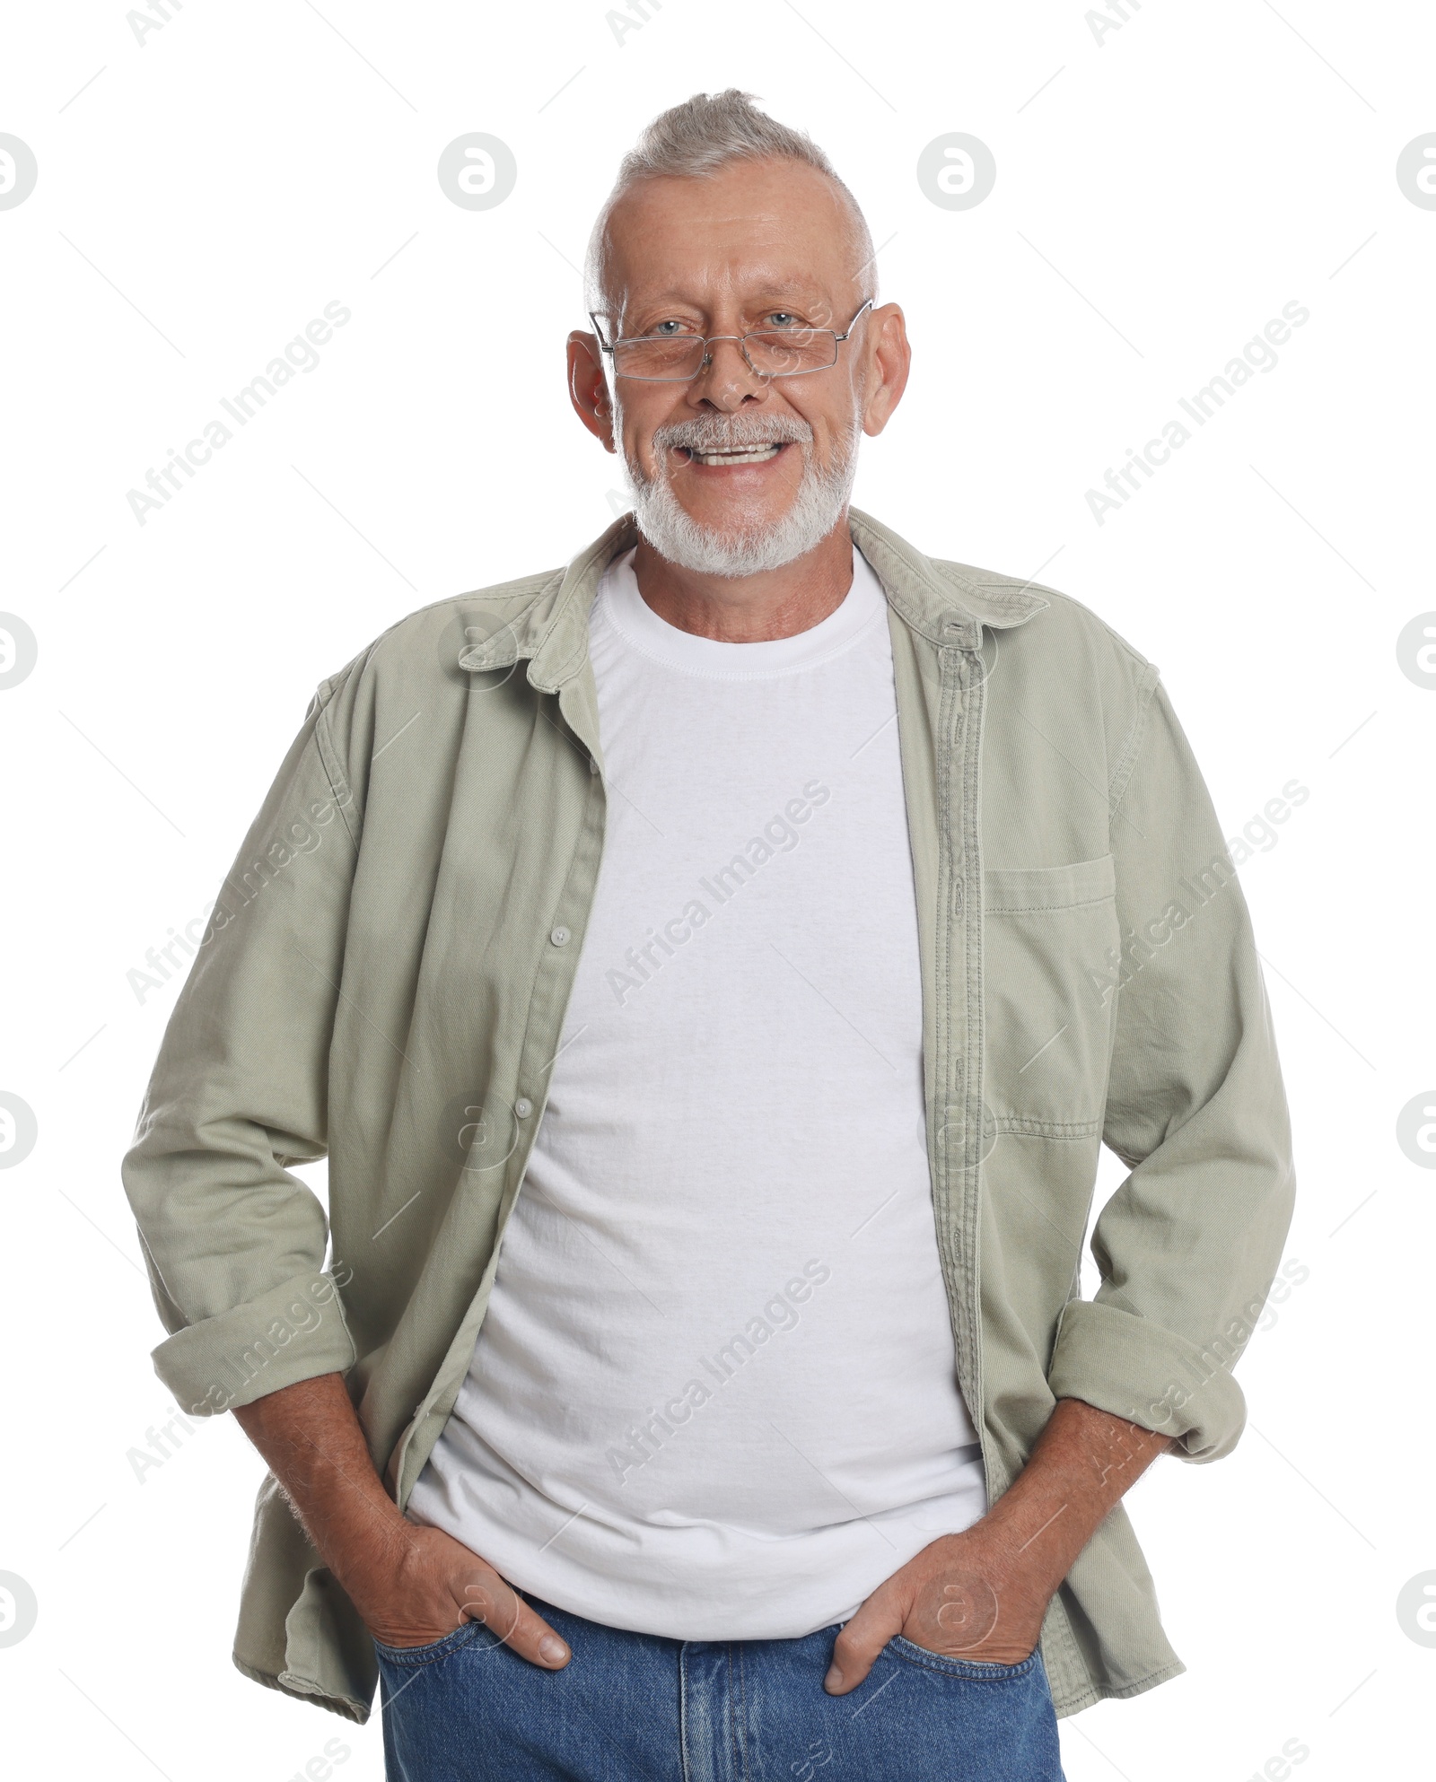
M631 649L677 674L709 681L766 681L816 668L850 649L887 613L887 597L868 560L853 547L853 579L843 602L807 631L759 643L722 643L679 631L659 618L638 592L632 551L615 558L604 576L600 615Z

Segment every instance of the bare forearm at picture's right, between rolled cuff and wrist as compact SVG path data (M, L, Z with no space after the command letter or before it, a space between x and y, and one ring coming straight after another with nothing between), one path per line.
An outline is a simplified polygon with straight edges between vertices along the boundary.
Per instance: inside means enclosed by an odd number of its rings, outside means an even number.
M1122 1493L1171 1445L1171 1436L1081 1399L1058 1399L1026 1467L976 1527L1057 1590Z

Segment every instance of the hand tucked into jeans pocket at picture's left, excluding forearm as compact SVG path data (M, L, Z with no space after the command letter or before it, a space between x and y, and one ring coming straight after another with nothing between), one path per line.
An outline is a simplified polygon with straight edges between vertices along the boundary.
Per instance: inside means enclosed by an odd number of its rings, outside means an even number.
M570 1659L565 1641L494 1566L442 1529L404 1522L383 1557L344 1565L339 1581L387 1647L428 1647L465 1622L483 1622L531 1664L561 1670Z

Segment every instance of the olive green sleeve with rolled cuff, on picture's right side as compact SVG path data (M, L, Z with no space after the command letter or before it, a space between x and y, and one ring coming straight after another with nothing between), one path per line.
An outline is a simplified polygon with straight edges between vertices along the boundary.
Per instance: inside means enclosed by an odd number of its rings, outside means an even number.
M1122 943L1103 1139L1130 1174L1097 1217L1101 1285L1065 1306L1048 1383L1217 1459L1245 1420L1231 1367L1281 1260L1292 1137L1247 905L1160 684L1112 854Z

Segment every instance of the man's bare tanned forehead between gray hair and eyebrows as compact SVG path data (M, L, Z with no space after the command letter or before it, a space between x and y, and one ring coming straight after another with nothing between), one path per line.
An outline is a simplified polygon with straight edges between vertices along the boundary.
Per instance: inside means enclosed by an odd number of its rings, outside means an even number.
M852 216L832 180L793 160L641 180L608 221L608 283L625 305L755 289L846 298L857 258Z

